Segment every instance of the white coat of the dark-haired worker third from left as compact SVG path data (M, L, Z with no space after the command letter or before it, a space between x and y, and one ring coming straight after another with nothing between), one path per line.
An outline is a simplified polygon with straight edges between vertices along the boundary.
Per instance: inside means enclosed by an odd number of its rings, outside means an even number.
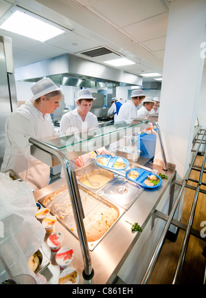
M137 107L132 100L127 100L119 109L116 122L132 122L132 118L137 118Z

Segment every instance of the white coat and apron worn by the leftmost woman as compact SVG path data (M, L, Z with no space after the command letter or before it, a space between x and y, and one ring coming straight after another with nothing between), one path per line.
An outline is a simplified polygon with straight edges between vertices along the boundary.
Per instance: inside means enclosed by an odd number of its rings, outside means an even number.
M50 167L30 154L28 140L54 136L55 129L50 114L38 111L32 103L21 105L12 112L5 123L5 154L1 171L13 169L36 190L49 183Z

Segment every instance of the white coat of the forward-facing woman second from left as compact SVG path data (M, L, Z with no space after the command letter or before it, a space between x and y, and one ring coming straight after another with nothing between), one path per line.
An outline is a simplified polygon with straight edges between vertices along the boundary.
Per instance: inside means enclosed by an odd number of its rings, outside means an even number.
M93 127L98 127L97 116L89 111L86 114L84 121L82 121L82 118L78 113L78 107L73 109L73 111L69 111L68 113L64 114L60 122L60 131L66 135L88 131L88 129Z

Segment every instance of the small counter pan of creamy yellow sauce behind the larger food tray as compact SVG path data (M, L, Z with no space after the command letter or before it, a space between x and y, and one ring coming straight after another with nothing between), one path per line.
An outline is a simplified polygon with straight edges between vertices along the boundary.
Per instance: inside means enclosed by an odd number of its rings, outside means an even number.
M79 181L84 186L89 187L90 189L100 189L101 187L106 185L109 181L111 181L114 178L113 173L111 173L110 171L106 171L104 169L94 169L93 171L89 171L88 175L92 182L100 183L98 187L93 187L93 185L91 185L91 183L87 178L87 174L82 175Z

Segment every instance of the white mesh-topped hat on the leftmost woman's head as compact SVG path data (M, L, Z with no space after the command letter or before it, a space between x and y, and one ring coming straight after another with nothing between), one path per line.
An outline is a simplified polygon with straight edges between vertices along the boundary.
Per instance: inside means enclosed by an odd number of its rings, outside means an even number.
M36 82L31 89L32 93L34 94L32 101L50 92L60 90L60 88L57 87L57 85L50 78L43 78L42 80Z

